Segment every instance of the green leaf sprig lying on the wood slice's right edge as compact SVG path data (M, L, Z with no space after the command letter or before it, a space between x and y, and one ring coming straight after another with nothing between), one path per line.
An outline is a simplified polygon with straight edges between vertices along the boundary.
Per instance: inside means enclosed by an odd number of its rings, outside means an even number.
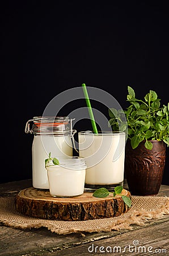
M122 200L124 201L124 203L126 205L128 205L128 207L132 206L132 200L130 200L130 198L128 196L124 196L121 194L122 192L122 186L117 186L115 188L115 192L109 192L107 188L98 188L96 189L96 191L93 193L93 196L95 197L100 197L100 198L104 198L109 196L109 194L113 193L113 196L115 197L116 195L121 196Z

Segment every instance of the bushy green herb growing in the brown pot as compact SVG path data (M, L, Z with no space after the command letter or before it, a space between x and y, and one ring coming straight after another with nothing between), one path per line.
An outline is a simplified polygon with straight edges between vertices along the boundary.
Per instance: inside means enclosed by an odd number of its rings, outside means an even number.
M109 126L113 130L127 131L132 148L145 141L145 147L153 148L151 140L163 141L169 146L169 103L160 106L157 93L150 90L144 100L138 100L134 90L128 86L129 107L124 110L126 121L122 121L121 110L109 109Z

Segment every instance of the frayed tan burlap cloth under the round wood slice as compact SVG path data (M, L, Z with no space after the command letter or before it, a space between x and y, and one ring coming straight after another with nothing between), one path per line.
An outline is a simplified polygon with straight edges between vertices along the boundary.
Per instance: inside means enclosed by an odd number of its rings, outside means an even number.
M44 220L23 216L16 212L14 196L0 197L0 222L20 229L48 228L57 234L83 232L110 232L111 230L132 229L131 225L145 225L154 218L169 214L169 197L132 196L132 207L119 217L87 221Z

